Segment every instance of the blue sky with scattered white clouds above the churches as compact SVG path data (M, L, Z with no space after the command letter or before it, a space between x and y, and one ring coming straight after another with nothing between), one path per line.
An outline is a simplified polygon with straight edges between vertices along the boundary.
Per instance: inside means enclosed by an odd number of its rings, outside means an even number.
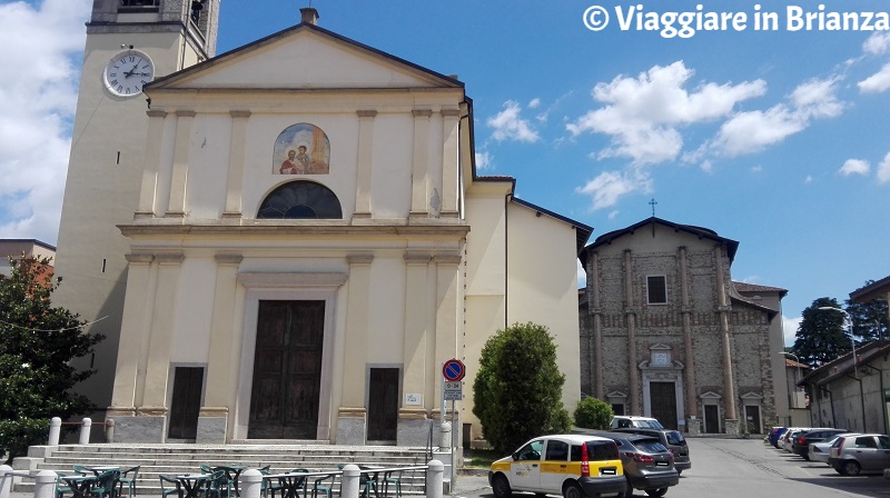
M0 0L0 238L56 243L91 4ZM217 53L308 4L224 0ZM456 74L477 172L516 178L590 242L653 208L739 241L734 280L788 289L788 343L813 300L890 275L888 0L312 7L323 28Z

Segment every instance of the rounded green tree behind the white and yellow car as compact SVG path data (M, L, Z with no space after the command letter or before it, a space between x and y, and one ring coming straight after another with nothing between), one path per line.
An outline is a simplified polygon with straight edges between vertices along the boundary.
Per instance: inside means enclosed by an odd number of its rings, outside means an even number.
M498 330L482 348L473 382L473 414L488 444L508 452L535 436L568 430L563 384L546 327L527 322Z

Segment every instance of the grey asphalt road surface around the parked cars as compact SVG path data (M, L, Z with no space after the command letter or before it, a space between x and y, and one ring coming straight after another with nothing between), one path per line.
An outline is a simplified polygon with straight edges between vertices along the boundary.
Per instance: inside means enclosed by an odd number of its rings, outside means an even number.
M764 445L762 439L689 439L692 469L666 497L683 498L839 498L890 496L881 475L843 477L825 464L809 462ZM459 476L459 497L491 498L485 477ZM516 497L532 497L516 494ZM634 496L645 497L643 491Z

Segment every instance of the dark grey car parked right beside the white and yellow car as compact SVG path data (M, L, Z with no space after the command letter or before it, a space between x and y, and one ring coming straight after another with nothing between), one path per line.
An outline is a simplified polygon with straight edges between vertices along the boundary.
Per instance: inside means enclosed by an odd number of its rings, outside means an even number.
M627 431L596 432L619 446L621 465L627 479L625 497L634 489L653 497L664 496L668 488L680 484L680 472L674 468L673 454L657 437Z

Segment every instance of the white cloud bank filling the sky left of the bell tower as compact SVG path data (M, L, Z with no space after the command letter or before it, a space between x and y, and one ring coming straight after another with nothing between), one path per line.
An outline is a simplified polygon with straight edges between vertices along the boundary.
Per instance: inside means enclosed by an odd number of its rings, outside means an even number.
M0 237L56 242L90 6L0 4Z

